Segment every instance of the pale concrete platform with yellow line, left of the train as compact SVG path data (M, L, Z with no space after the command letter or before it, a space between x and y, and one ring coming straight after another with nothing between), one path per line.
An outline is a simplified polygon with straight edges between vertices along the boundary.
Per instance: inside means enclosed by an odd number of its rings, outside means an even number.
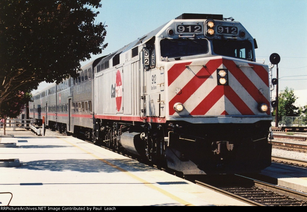
M14 136L1 143L0 192L10 206L247 206L115 152L68 136ZM0 194L0 206L10 195Z

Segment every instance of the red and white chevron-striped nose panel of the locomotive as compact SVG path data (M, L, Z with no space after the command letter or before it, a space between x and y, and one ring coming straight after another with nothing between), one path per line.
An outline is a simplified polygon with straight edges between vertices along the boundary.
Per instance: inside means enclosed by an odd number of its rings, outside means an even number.
M217 85L216 69L228 69L228 85ZM270 106L269 77L264 65L223 58L173 64L168 69L169 115L265 115ZM181 92L178 94L175 90ZM173 105L184 104L177 113ZM266 112L270 115L270 110Z

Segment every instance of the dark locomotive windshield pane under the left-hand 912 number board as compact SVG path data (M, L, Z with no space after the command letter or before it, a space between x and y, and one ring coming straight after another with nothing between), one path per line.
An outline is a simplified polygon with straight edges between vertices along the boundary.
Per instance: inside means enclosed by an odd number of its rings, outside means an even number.
M162 57L185 57L208 53L206 39L168 39L160 41Z

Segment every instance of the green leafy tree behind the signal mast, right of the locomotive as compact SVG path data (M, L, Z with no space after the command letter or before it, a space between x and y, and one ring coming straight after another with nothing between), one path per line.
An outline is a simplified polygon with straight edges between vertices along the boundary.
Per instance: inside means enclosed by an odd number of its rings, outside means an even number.
M287 116L298 116L298 107L294 105L297 97L294 95L292 88L286 87L284 91L280 92L278 95L278 120L282 120L282 117ZM275 111L274 111L275 116ZM281 121L282 124L286 124Z

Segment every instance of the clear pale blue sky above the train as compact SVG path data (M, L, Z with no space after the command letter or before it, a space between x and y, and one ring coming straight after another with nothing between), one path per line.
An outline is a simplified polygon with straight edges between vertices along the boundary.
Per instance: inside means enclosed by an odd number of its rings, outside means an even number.
M280 55L279 90L286 86L307 89L307 0L102 0L101 3L96 21L107 25L108 43L102 55L120 49L182 13L223 14L224 18L233 17L241 22L256 38L257 59L265 59L268 64L271 53ZM99 56L92 59L96 57ZM276 66L273 76L276 77Z

